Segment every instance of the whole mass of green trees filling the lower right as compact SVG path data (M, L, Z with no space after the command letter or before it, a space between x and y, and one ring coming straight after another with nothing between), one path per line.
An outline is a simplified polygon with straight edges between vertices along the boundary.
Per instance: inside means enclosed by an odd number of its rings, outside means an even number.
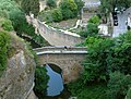
M129 97L131 88L131 32L129 30L117 38L87 37L83 45L87 47L88 54L83 62L84 70L81 78L69 86L71 92L73 91L74 96L81 95L81 97L86 97L85 99L92 99L87 97L90 96L88 90L85 91L86 95L82 94L85 87L106 83L107 89L104 92L106 96L100 99ZM75 89L73 90L72 87ZM91 91L94 91L94 88Z

